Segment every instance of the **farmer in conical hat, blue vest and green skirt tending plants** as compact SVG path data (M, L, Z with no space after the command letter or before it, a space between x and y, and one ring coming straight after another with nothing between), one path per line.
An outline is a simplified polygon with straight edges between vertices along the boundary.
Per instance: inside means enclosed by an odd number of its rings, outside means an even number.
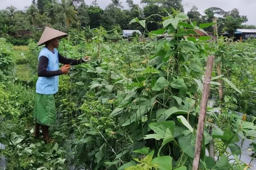
M38 81L36 85L36 101L34 107L35 131L33 136L40 136L40 126L43 132L44 141L49 143L49 125L56 121L56 109L54 95L58 91L59 75L69 72L69 65L78 65L88 60L88 56L80 60L68 59L58 53L59 39L68 34L46 27L38 46L45 45L38 56ZM59 63L65 64L59 69Z

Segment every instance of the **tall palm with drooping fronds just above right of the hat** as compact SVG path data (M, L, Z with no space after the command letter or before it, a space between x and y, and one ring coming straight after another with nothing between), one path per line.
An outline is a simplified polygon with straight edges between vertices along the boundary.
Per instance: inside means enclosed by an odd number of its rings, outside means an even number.
M69 26L70 23L76 23L77 11L75 11L75 8L71 3L71 0L56 0L55 3L59 5L60 12L65 14L67 26Z

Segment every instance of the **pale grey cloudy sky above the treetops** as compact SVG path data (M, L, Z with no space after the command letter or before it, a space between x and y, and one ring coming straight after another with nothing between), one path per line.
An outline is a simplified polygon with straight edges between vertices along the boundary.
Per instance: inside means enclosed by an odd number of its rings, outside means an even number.
M126 0L121 0L123 6L127 8ZM140 0L133 0L134 3L139 4ZM6 6L16 6L19 10L24 10L25 6L29 6L32 0L0 0L0 9L4 9ZM85 0L87 4L91 4L92 0ZM98 0L98 4L101 8L105 8L111 0ZM220 7L224 11L230 11L233 8L238 8L240 15L247 15L249 19L246 24L256 25L256 0L183 0L185 12L189 11L193 5L196 5L201 14L209 7ZM140 5L143 6L143 5Z

